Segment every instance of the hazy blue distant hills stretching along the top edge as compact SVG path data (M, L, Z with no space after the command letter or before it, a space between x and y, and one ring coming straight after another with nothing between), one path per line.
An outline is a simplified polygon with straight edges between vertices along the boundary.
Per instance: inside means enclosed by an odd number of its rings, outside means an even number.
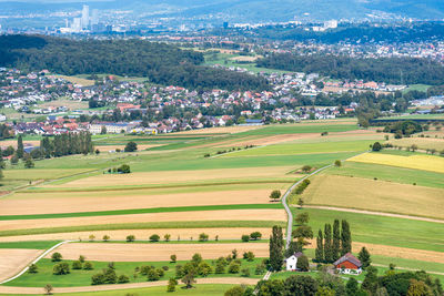
M1 10L47 11L79 9L84 2L40 0L9 2L0 0ZM135 14L203 16L220 13L232 22L261 22L329 19L443 19L442 0L114 0L85 1L92 8L133 10Z

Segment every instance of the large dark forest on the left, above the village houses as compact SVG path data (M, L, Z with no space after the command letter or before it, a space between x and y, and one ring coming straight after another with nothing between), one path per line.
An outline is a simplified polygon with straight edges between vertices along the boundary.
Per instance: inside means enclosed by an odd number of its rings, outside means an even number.
M265 79L200 65L203 54L143 40L82 40L51 37L0 37L0 67L65 75L147 76L151 82L184 88L264 90Z

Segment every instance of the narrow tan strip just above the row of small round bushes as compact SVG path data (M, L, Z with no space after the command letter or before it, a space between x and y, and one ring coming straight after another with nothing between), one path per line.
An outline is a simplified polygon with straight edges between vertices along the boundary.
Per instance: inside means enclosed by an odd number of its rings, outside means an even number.
M263 238L269 238L271 228L250 228L250 227L230 227L230 228L176 228L176 229L122 229L122 231L93 231L93 232L74 232L74 233L51 233L51 234L33 234L33 235L18 235L18 236L2 236L0 242L36 242L36 241L88 241L90 235L94 235L95 241L102 239L103 235L109 235L114 241L125 241L127 236L132 234L137 239L147 241L151 234L159 234L163 238L165 234L171 235L172 241L176 241L178 236L181 239L190 239L193 237L195 241L199 234L205 233L214 241L215 236L219 239L240 239L243 234L251 234L252 232L262 233Z

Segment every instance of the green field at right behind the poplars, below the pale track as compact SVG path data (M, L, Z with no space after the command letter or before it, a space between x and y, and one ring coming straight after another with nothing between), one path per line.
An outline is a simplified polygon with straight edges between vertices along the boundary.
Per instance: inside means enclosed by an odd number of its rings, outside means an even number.
M325 223L333 224L335 218L346 220L351 225L354 242L400 246L417 249L443 252L444 224L397 217L385 217L360 213L327 211L317 208L292 208L294 214L307 212L313 233L324 228ZM414 251L412 251L414 252ZM444 252L443 252L444 256Z

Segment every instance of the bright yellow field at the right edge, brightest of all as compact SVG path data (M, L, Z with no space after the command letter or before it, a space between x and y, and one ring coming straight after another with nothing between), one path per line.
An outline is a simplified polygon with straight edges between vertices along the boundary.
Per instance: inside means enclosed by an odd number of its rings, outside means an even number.
M444 173L444 157L432 155L401 156L382 153L365 153L350 159L351 162L375 163L414 170Z

